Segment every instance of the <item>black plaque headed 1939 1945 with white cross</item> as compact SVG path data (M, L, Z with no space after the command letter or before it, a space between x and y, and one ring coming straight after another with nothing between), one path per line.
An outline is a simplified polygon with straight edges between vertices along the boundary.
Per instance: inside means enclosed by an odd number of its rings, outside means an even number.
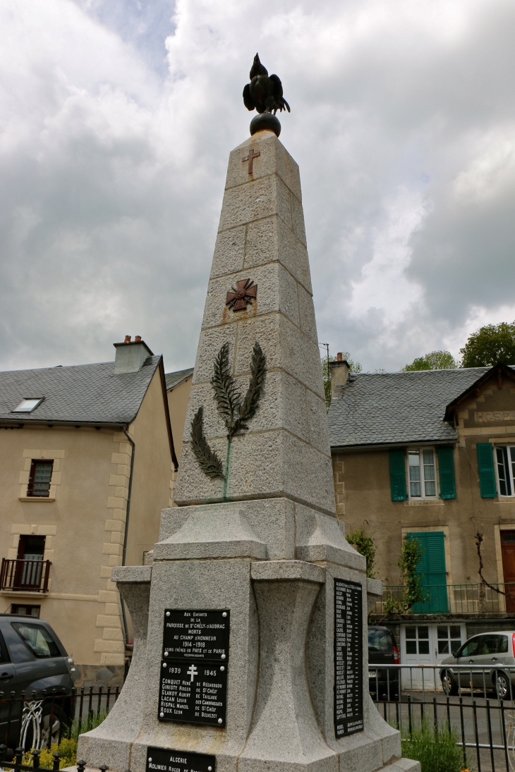
M161 662L160 721L225 726L227 665L218 662Z

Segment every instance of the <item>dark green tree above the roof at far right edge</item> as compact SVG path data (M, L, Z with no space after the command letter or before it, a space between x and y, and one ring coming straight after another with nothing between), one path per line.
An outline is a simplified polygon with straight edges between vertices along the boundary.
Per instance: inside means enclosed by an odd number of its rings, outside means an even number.
M459 353L463 355L462 367L492 367L497 362L515 364L515 322L479 327Z

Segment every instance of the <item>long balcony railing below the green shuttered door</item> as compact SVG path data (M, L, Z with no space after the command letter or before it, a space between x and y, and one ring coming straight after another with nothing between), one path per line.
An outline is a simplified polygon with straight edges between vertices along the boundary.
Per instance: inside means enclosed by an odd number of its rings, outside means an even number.
M500 592L496 592L496 588ZM381 601L376 601L373 614L386 614L386 601L401 601L405 587L386 584ZM499 614L515 613L515 582L492 584L442 584L422 587L425 596L408 614ZM506 593L506 594L503 594Z

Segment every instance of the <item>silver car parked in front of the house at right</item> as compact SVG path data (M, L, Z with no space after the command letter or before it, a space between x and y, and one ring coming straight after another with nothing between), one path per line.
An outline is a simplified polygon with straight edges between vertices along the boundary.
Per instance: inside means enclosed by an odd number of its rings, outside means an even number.
M460 667L453 668L452 665ZM461 665L474 665L474 669L467 670ZM473 689L493 687L499 699L513 699L515 630L485 632L469 638L455 655L442 660L440 678L448 696L458 694L460 687L470 689L472 686Z

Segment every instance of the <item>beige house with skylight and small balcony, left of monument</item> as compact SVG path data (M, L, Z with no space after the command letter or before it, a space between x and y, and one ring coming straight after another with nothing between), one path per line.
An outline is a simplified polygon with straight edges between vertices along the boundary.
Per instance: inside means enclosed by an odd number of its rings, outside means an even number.
M0 611L49 621L79 686L123 682L111 570L152 549L177 469L163 358L114 346L114 362L0 373Z

